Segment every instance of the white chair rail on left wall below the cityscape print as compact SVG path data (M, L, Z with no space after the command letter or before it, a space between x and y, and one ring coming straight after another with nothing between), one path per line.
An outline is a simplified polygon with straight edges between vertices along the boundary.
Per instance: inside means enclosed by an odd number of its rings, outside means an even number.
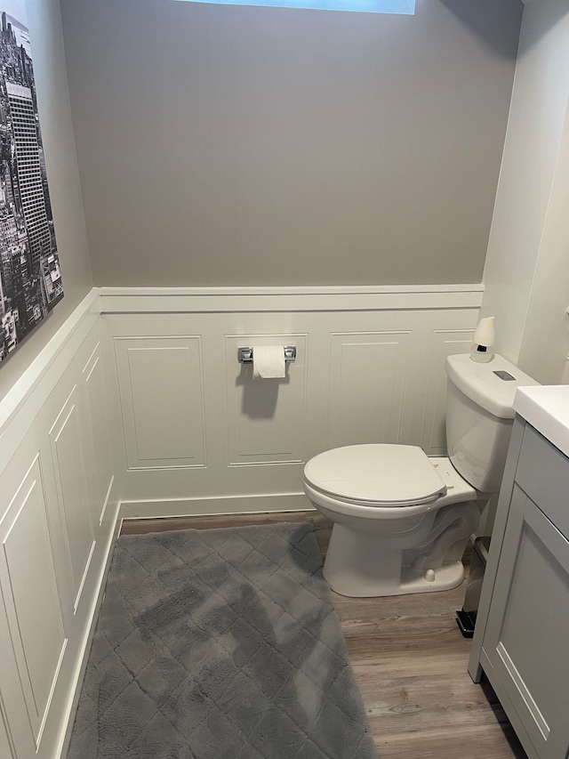
M83 301L79 303L76 310L66 319L52 339L37 354L28 368L20 375L18 380L12 385L10 390L0 401L0 438L4 435L5 427L12 421L13 417L24 406L29 399L40 380L47 374L48 370L54 365L56 359L60 357L61 351L66 346L71 347L71 355L75 354L79 344L83 341L84 336L91 329L96 318L100 314L100 291L97 287L85 295ZM92 317L86 322L88 317ZM82 327L82 329L79 329ZM73 342L72 342L73 341ZM42 395L47 397L49 392L60 379L60 376L67 368L67 362L61 362L60 371L52 377L50 387L46 388Z

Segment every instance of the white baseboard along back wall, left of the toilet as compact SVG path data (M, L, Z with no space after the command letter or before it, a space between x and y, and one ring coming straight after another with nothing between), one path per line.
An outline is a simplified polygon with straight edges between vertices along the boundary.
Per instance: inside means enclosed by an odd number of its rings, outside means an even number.
M263 496L178 498L148 501L121 501L120 519L158 519L164 517L212 516L314 510L303 493Z

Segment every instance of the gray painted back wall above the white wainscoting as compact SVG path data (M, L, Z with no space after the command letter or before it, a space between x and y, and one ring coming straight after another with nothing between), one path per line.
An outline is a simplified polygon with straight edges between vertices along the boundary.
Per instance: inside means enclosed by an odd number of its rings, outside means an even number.
M61 0L95 283L481 281L522 10Z

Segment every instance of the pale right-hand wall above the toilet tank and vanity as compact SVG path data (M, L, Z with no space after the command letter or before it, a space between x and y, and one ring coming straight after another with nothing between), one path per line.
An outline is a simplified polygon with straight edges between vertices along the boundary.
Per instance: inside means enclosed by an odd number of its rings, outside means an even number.
M496 348L543 384L569 383L569 0L524 11L482 315Z

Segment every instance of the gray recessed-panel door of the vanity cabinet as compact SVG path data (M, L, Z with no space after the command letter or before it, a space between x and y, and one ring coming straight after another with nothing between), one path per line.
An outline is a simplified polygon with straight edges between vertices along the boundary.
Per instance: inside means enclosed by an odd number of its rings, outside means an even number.
M569 543L514 486L483 644L541 759L569 747Z

